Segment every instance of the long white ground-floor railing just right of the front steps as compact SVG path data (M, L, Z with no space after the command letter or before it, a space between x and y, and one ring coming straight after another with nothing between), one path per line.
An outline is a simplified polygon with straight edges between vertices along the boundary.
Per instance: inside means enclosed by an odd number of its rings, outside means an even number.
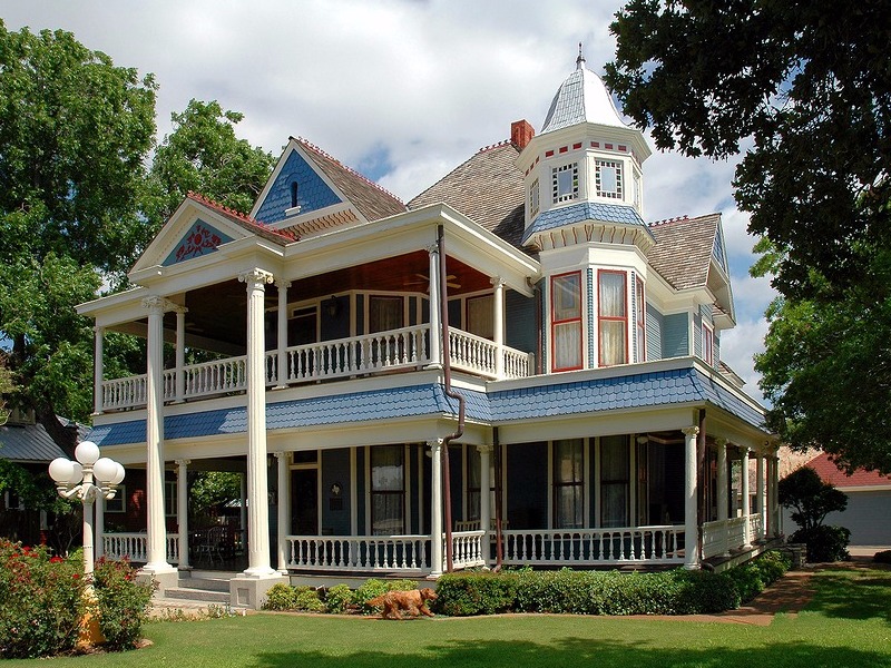
M430 570L429 536L288 536L290 569Z

